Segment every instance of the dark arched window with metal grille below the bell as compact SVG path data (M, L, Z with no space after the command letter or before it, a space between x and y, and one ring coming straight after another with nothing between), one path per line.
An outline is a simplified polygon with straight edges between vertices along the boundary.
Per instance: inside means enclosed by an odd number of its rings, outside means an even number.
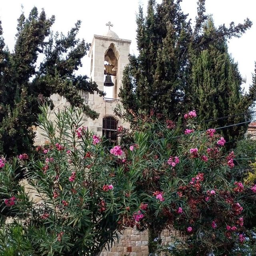
M102 136L105 135L112 145L117 144L117 126L118 121L111 116L106 116L102 120Z

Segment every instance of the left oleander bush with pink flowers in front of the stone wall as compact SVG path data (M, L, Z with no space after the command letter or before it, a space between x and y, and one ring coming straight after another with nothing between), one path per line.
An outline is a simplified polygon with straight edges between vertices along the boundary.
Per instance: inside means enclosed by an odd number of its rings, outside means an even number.
M2 227L0 254L96 255L123 229L120 216L132 218L138 208L130 182L138 174L123 175L124 166L106 154L98 136L80 126L82 110L58 112L55 122L42 110L50 144L37 148L40 159L22 154L0 172L1 211L14 221ZM21 184L12 186L18 161L26 170L25 192Z

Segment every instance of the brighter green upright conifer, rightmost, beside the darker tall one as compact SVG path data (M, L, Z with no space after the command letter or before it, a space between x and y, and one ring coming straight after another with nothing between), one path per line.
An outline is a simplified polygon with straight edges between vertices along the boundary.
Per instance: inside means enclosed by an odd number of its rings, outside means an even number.
M204 34L207 37L215 32L213 20L209 18L204 25ZM250 120L250 114L222 118L248 112L256 96L254 86L251 86L248 94L242 91L238 65L228 54L224 38L191 53L190 65L191 81L185 102L187 110L191 107L197 110L202 130ZM235 126L222 130L222 133L226 139L235 139L243 136L245 130L245 125Z

